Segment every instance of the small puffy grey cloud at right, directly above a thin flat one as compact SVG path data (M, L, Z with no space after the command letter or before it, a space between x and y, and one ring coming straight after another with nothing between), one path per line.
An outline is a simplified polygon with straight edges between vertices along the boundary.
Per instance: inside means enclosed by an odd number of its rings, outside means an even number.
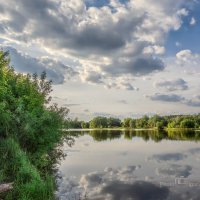
M157 81L155 86L164 88L166 91L187 90L188 84L182 78L166 81Z

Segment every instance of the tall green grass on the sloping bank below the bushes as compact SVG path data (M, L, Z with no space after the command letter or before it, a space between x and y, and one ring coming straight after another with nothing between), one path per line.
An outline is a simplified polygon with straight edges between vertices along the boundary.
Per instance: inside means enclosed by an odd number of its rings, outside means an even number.
M51 200L55 183L31 164L13 138L0 140L0 182L14 182L14 189L1 196L5 200Z

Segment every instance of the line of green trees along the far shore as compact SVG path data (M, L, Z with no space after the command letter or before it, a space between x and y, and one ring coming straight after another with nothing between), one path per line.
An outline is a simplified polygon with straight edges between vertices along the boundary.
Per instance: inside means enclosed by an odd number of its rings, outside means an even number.
M200 114L197 115L170 115L152 117L143 116L138 119L114 117L95 117L89 122L76 119L67 119L65 128L132 128L132 129L164 129L164 128L200 128Z

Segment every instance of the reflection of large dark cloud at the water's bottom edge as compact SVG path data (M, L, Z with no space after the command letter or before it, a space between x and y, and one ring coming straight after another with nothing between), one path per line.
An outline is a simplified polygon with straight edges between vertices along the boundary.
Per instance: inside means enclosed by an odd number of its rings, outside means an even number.
M78 198L86 197L94 200L166 199L169 194L167 187L134 178L134 172L139 168L137 166L118 169L106 168L101 172L83 175L79 184L69 179L64 182L59 180L57 196L60 199L70 199L72 196L77 196Z

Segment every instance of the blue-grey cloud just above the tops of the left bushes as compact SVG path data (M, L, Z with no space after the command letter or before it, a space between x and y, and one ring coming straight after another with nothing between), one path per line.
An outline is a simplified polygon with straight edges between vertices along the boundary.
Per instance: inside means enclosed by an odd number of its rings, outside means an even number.
M4 49L9 51L11 65L17 72L41 74L43 71L46 71L47 78L51 79L53 84L62 84L65 78L70 78L77 74L72 68L48 57L33 58L23 55L11 47L5 47Z

